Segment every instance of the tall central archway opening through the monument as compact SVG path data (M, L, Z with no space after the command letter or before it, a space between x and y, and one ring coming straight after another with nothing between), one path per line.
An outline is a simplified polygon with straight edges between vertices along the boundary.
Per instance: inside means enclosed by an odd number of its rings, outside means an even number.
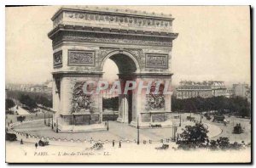
M132 74L137 72L137 63L131 55L125 53L109 54L102 62L102 79L108 81L108 89L102 92L103 120L118 120L130 124L135 118L132 108L132 92L110 92L113 82L119 81L122 90L126 81L133 81Z

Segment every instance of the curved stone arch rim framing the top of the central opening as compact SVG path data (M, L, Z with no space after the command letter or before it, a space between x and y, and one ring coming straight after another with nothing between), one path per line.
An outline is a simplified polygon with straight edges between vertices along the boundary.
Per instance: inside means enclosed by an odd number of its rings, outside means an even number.
M119 72L122 73L123 71L121 70L122 64L121 62L119 62L119 59L125 59L124 62L126 61L126 64L129 64L131 67L131 69L136 69L136 70L130 70L131 72L140 72L141 67L137 61L137 59L133 56L133 54L131 54L128 51L125 50L113 50L111 52L109 52L108 54L106 54L100 64L100 70L103 70L103 66L106 62L107 59L112 59L113 62L115 62L115 64L117 64L118 68L119 68ZM133 67L134 66L134 67Z

